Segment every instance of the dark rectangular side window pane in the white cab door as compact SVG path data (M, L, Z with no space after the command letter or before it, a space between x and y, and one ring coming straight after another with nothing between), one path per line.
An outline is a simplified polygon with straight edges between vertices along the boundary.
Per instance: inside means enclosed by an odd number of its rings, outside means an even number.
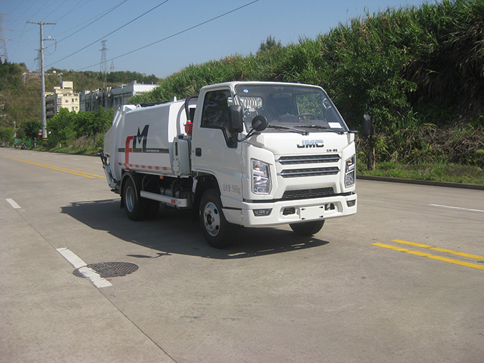
M202 127L226 128L229 97L229 90L217 90L205 95Z

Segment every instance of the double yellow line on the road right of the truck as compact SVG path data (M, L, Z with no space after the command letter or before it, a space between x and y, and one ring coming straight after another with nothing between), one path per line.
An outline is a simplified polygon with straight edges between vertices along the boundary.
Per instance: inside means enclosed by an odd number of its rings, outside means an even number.
M438 247L434 247L434 246L429 246L428 244L419 244L419 243L416 243L416 242L408 242L408 241L403 241L402 239L394 239L391 242L394 242L394 243L397 243L397 244L405 244L407 246L414 246L414 247L418 247L418 248L425 248L425 249L428 249L428 250L441 252L441 253L447 253L449 255L455 255L455 256L464 257L464 258L467 258L467 259L478 259L479 261L484 261L484 257L482 257L482 256L471 255L470 253L463 253L463 252L458 252L458 251L447 250L445 248L438 248ZM411 255L417 255L417 256L437 259L438 261L448 262L449 264L456 264L456 265L460 265L460 266L477 268L478 270L484 270L484 264L483 265L473 264L472 262L465 262L465 261L462 261L460 259L443 257L443 256L439 256L439 255L432 255L431 253L414 251L414 250L410 250L409 248L393 246L391 244L374 243L372 245L378 246L378 247L383 247L383 248L389 248L390 250L394 250L394 251L410 253Z

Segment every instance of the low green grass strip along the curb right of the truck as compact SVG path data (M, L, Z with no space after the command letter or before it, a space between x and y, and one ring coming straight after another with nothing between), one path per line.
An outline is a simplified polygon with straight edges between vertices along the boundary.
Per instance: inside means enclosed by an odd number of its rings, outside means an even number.
M484 170L482 168L462 164L398 164L395 162L384 162L377 164L375 170L368 170L364 163L360 163L358 164L358 175L484 184Z

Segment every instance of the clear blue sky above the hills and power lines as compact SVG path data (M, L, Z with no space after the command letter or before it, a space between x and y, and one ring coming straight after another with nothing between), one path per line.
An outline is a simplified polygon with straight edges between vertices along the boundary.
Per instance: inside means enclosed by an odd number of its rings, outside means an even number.
M44 42L46 69L99 71L101 40L106 39L108 68L113 62L115 70L166 77L190 64L255 53L269 36L282 45L297 43L367 11L425 2L434 1L0 0L0 13L3 35L11 39L6 41L8 61L30 70L39 68L40 27L27 21L55 23L43 26L44 39L57 39L57 45Z

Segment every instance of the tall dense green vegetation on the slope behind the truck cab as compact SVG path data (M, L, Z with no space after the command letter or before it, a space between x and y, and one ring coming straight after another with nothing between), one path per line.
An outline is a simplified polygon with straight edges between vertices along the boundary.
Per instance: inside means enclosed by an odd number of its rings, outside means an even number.
M289 46L269 37L255 54L188 66L132 101L233 80L322 86L352 128L371 115L377 161L484 166L483 0L367 14Z

